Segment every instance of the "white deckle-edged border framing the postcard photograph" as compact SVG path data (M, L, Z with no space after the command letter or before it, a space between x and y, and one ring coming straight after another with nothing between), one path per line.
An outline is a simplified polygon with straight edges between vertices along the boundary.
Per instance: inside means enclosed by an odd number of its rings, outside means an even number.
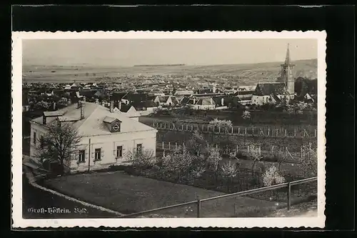
M22 218L22 40L23 39L317 39L318 41L318 216L286 218ZM12 227L317 227L325 226L326 31L14 31L12 33L11 202Z

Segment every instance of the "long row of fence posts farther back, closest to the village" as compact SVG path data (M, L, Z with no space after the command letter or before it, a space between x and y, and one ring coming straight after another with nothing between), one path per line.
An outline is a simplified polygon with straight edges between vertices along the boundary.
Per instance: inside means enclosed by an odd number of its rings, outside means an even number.
M154 122L152 127L159 130L213 133L238 137L291 137L314 138L317 129L312 127L214 127L210 124Z

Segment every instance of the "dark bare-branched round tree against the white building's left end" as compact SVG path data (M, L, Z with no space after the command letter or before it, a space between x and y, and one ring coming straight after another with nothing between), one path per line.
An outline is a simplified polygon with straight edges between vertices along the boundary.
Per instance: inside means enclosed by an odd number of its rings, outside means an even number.
M52 122L46 126L46 134L39 139L37 156L41 162L59 162L63 174L64 167L78 151L80 142L81 136L71 123Z

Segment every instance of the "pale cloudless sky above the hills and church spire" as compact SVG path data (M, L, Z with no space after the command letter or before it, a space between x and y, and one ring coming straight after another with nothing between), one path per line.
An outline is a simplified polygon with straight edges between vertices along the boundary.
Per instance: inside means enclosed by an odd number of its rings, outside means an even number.
M24 65L254 64L317 59L316 39L26 39Z

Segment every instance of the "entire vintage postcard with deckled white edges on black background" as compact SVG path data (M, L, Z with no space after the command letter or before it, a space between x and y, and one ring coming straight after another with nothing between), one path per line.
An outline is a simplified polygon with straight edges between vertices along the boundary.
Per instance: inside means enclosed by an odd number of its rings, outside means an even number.
M12 40L13 227L325 226L325 31Z

